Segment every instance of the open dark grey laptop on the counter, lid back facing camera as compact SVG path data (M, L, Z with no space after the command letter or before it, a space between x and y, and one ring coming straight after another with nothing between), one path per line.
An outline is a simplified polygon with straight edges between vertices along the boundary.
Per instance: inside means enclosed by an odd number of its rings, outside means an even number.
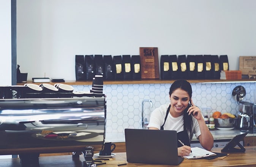
M125 129L127 162L179 165L177 132L168 130Z

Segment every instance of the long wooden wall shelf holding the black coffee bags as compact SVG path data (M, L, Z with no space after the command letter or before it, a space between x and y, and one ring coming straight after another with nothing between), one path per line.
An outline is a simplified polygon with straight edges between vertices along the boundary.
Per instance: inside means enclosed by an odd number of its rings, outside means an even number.
M115 85L115 84L156 84L156 83L173 83L175 80L159 80L159 79L144 79L144 80L105 80L104 85ZM253 79L240 79L240 80L188 80L190 83L243 83L243 82L256 82ZM32 81L17 83L17 85L24 85L25 83L34 83ZM47 82L54 85L56 82ZM92 85L92 81L66 81L60 82L67 85ZM35 83L40 85L41 83Z

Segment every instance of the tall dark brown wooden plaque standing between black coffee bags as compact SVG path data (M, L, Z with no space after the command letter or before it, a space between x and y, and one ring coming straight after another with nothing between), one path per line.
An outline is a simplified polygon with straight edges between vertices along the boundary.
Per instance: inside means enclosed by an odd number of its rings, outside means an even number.
M159 79L158 48L140 47L141 79Z

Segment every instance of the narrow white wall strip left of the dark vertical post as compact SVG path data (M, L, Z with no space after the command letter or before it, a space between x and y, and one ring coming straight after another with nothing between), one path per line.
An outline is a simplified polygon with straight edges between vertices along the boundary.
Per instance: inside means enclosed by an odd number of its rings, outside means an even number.
M0 85L11 85L11 0L0 0Z

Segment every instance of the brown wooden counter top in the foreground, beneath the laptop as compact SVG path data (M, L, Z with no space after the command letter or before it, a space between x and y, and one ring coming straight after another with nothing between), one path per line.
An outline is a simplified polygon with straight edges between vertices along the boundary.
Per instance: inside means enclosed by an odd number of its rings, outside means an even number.
M127 163L122 167L255 167L256 166L256 147L245 147L245 153L230 153L224 159L184 159L180 165L152 165L152 164L133 164ZM221 148L215 148L212 151L220 153ZM93 158L97 158L94 156ZM116 153L113 158L116 161L126 162L126 153ZM80 155L79 158L72 159L71 155L63 156L44 156L39 158L40 167L82 167L84 158ZM2 167L21 167L19 158L0 159L0 166ZM106 165L98 165L99 167L106 167ZM111 167L110 165L108 167ZM112 166L117 167L117 165Z

